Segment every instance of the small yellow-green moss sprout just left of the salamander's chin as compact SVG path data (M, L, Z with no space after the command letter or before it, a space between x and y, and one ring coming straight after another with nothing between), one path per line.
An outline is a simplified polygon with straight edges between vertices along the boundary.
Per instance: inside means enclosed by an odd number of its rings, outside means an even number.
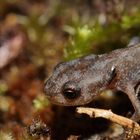
M36 99L34 99L33 104L37 110L41 110L49 105L49 101L44 95L39 95Z

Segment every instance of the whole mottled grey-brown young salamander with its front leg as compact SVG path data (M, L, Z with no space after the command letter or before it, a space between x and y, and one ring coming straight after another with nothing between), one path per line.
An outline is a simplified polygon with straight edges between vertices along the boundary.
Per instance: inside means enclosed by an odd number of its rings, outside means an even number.
M64 106L87 104L105 89L127 94L135 109L132 119L140 120L140 44L60 63L45 83L48 98Z

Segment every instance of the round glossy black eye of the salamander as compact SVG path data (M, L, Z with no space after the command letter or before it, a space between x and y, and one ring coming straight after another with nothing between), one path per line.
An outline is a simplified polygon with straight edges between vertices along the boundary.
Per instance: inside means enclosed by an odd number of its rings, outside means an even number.
M66 99L77 99L80 96L80 93L80 88L73 82L67 82L63 86L63 95Z

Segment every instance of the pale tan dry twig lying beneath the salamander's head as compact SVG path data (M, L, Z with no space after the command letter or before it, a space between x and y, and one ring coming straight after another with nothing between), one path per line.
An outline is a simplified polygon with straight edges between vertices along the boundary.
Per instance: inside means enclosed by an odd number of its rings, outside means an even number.
M85 113L91 118L102 117L108 119L114 123L133 129L134 134L140 135L140 125L138 123L126 117L116 115L113 112L111 112L111 110L78 107L77 112L80 114Z

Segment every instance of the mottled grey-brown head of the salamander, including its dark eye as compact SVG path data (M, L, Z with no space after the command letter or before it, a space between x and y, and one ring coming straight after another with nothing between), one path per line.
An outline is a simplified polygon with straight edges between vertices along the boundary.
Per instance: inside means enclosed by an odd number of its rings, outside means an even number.
M114 68L106 67L108 61L90 55L58 64L45 83L46 95L65 106L89 103L112 78Z

